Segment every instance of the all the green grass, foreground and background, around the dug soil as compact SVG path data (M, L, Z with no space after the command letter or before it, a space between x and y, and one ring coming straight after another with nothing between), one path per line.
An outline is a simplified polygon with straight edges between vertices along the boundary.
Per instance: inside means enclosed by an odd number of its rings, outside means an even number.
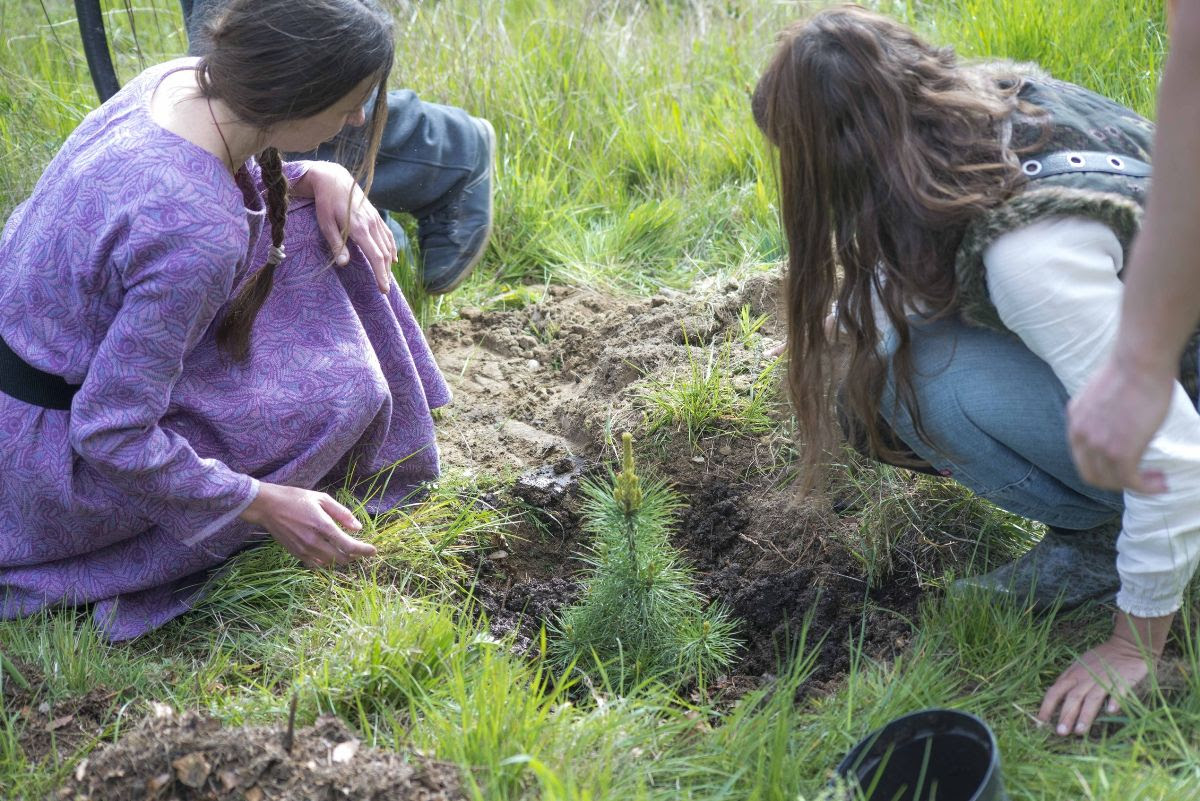
M874 5L967 55L1037 60L1057 77L1153 112L1164 47L1158 0ZM414 299L422 319L454 314L458 303L529 302L527 284L649 293L780 257L769 157L748 92L775 32L802 4L395 6L398 83L487 116L499 135L492 245L476 277L451 299ZM125 78L182 52L174 0L106 0L106 7ZM95 106L72 13L67 0L0 1L0 215L28 194ZM746 312L730 343L694 344L690 372L678 385L655 387L665 402L650 402L650 420L666 404L727 401L720 387L737 377L728 362L722 367L722 350L750 349L757 327ZM730 415L726 403L716 415L688 412L660 428L703 438L721 420L745 417ZM994 552L984 560L1036 534L947 482L863 465L841 475L846 514L857 520L844 536L876 583L894 576L906 554L930 547L934 530L982 535ZM376 520L366 536L382 559L370 572L314 573L266 547L239 555L199 610L132 644L108 644L82 615L56 612L0 622L0 648L42 677L34 682L40 699L114 691L106 739L151 700L236 724L282 719L295 693L302 722L334 710L373 745L455 761L478 799L811 801L858 739L900 713L938 705L992 725L1014 799L1200 797L1194 626L1177 643L1182 686L1152 689L1120 715L1120 725L1087 741L1060 741L1030 716L1073 655L1104 636L1104 615L1084 610L1050 625L970 596L929 603L896 661L857 654L845 682L800 704L794 691L812 669L815 642L798 644L774 685L733 707L680 699L658 685L618 693L602 680L564 679L544 661L512 656L463 614L456 600L473 580L464 553L503 536L506 525L504 513L478 500L451 481L422 505ZM17 680L0 671L0 681ZM76 759L26 764L17 739L28 724L19 709L0 707L5 797L42 797Z

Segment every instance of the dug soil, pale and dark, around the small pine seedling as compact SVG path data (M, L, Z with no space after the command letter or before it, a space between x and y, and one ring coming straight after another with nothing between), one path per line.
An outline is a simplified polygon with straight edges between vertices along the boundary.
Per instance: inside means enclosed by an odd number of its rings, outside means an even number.
M853 556L862 536L853 508L798 499L781 371L769 355L782 338L778 289L774 273L644 300L551 287L521 308L467 308L433 327L455 391L438 429L443 465L510 477L498 502L517 524L480 560L474 589L494 633L532 648L542 624L577 597L588 544L578 482L606 475L629 430L640 471L684 499L674 543L701 591L738 621L744 648L720 688L737 695L769 680L805 621L809 646L820 643L810 692L845 674L850 643L881 658L907 643L922 576L962 554L948 544L953 536L936 542L932 532L920 559L869 583ZM654 397L712 371L743 399L769 387L778 424L748 430L716 418L690 435L683 423L659 424Z

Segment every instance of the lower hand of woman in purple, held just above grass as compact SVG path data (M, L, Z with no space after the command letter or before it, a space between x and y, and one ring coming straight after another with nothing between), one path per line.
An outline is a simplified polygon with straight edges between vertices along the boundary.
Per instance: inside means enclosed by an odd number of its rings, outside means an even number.
M258 495L241 513L251 525L266 529L306 567L346 565L373 556L374 546L355 540L341 526L358 531L354 513L325 493L283 484L259 483Z

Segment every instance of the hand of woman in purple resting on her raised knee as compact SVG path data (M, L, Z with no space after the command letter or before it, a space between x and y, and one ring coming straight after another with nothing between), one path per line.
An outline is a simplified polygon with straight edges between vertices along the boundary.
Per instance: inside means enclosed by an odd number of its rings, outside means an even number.
M391 285L391 263L396 260L396 239L354 176L341 164L313 162L292 185L292 192L317 201L317 225L335 254L334 261L344 266L350 260L342 241L346 230L371 265L379 291L386 293Z

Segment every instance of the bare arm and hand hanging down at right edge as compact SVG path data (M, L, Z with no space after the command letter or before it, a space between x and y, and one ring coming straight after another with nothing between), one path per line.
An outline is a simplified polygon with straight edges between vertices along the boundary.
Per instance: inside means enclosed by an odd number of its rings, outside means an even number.
M1200 320L1200 0L1171 4L1171 52L1163 72L1154 179L1127 269L1121 335L1111 357L1069 409L1080 475L1110 489L1162 492L1139 469L1166 414L1180 354Z

